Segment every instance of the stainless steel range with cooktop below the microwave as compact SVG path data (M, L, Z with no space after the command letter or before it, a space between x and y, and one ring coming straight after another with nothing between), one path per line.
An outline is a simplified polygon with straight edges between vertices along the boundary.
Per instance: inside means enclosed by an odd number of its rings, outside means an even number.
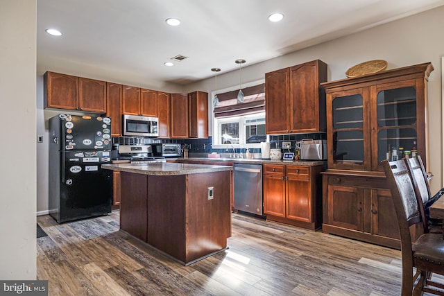
M119 159L128 159L131 164L167 162L165 157L154 157L151 145L120 145Z

